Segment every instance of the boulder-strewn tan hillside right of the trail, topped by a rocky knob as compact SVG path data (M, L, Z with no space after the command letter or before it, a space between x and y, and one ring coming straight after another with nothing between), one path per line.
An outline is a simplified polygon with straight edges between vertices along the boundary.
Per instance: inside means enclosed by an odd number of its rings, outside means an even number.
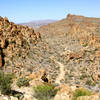
M55 51L53 59L64 65L63 81L99 91L100 18L68 14L39 31Z

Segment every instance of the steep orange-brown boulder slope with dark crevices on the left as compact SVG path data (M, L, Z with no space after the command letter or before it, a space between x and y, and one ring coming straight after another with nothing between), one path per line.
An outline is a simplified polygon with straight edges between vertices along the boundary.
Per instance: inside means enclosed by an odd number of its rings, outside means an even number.
M32 28L16 25L8 18L0 17L0 68L8 72L17 72L38 39Z

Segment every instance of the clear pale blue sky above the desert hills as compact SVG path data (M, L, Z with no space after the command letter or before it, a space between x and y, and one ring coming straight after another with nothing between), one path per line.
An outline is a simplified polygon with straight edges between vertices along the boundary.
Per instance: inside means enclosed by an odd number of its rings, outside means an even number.
M100 0L0 0L0 16L15 23L60 20L68 13L100 17Z

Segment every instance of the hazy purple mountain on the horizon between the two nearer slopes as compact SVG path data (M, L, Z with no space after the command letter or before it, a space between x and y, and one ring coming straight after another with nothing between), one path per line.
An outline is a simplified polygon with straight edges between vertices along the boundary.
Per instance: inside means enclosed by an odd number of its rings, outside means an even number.
M27 25L29 27L39 28L40 26L48 25L49 23L54 23L57 20L36 20L27 23L20 23L21 25Z

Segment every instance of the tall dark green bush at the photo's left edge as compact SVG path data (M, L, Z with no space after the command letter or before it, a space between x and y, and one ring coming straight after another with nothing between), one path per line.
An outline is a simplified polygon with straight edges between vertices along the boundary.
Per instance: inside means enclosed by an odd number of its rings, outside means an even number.
M2 94L9 94L11 92L12 74L5 74L0 71L0 90Z

